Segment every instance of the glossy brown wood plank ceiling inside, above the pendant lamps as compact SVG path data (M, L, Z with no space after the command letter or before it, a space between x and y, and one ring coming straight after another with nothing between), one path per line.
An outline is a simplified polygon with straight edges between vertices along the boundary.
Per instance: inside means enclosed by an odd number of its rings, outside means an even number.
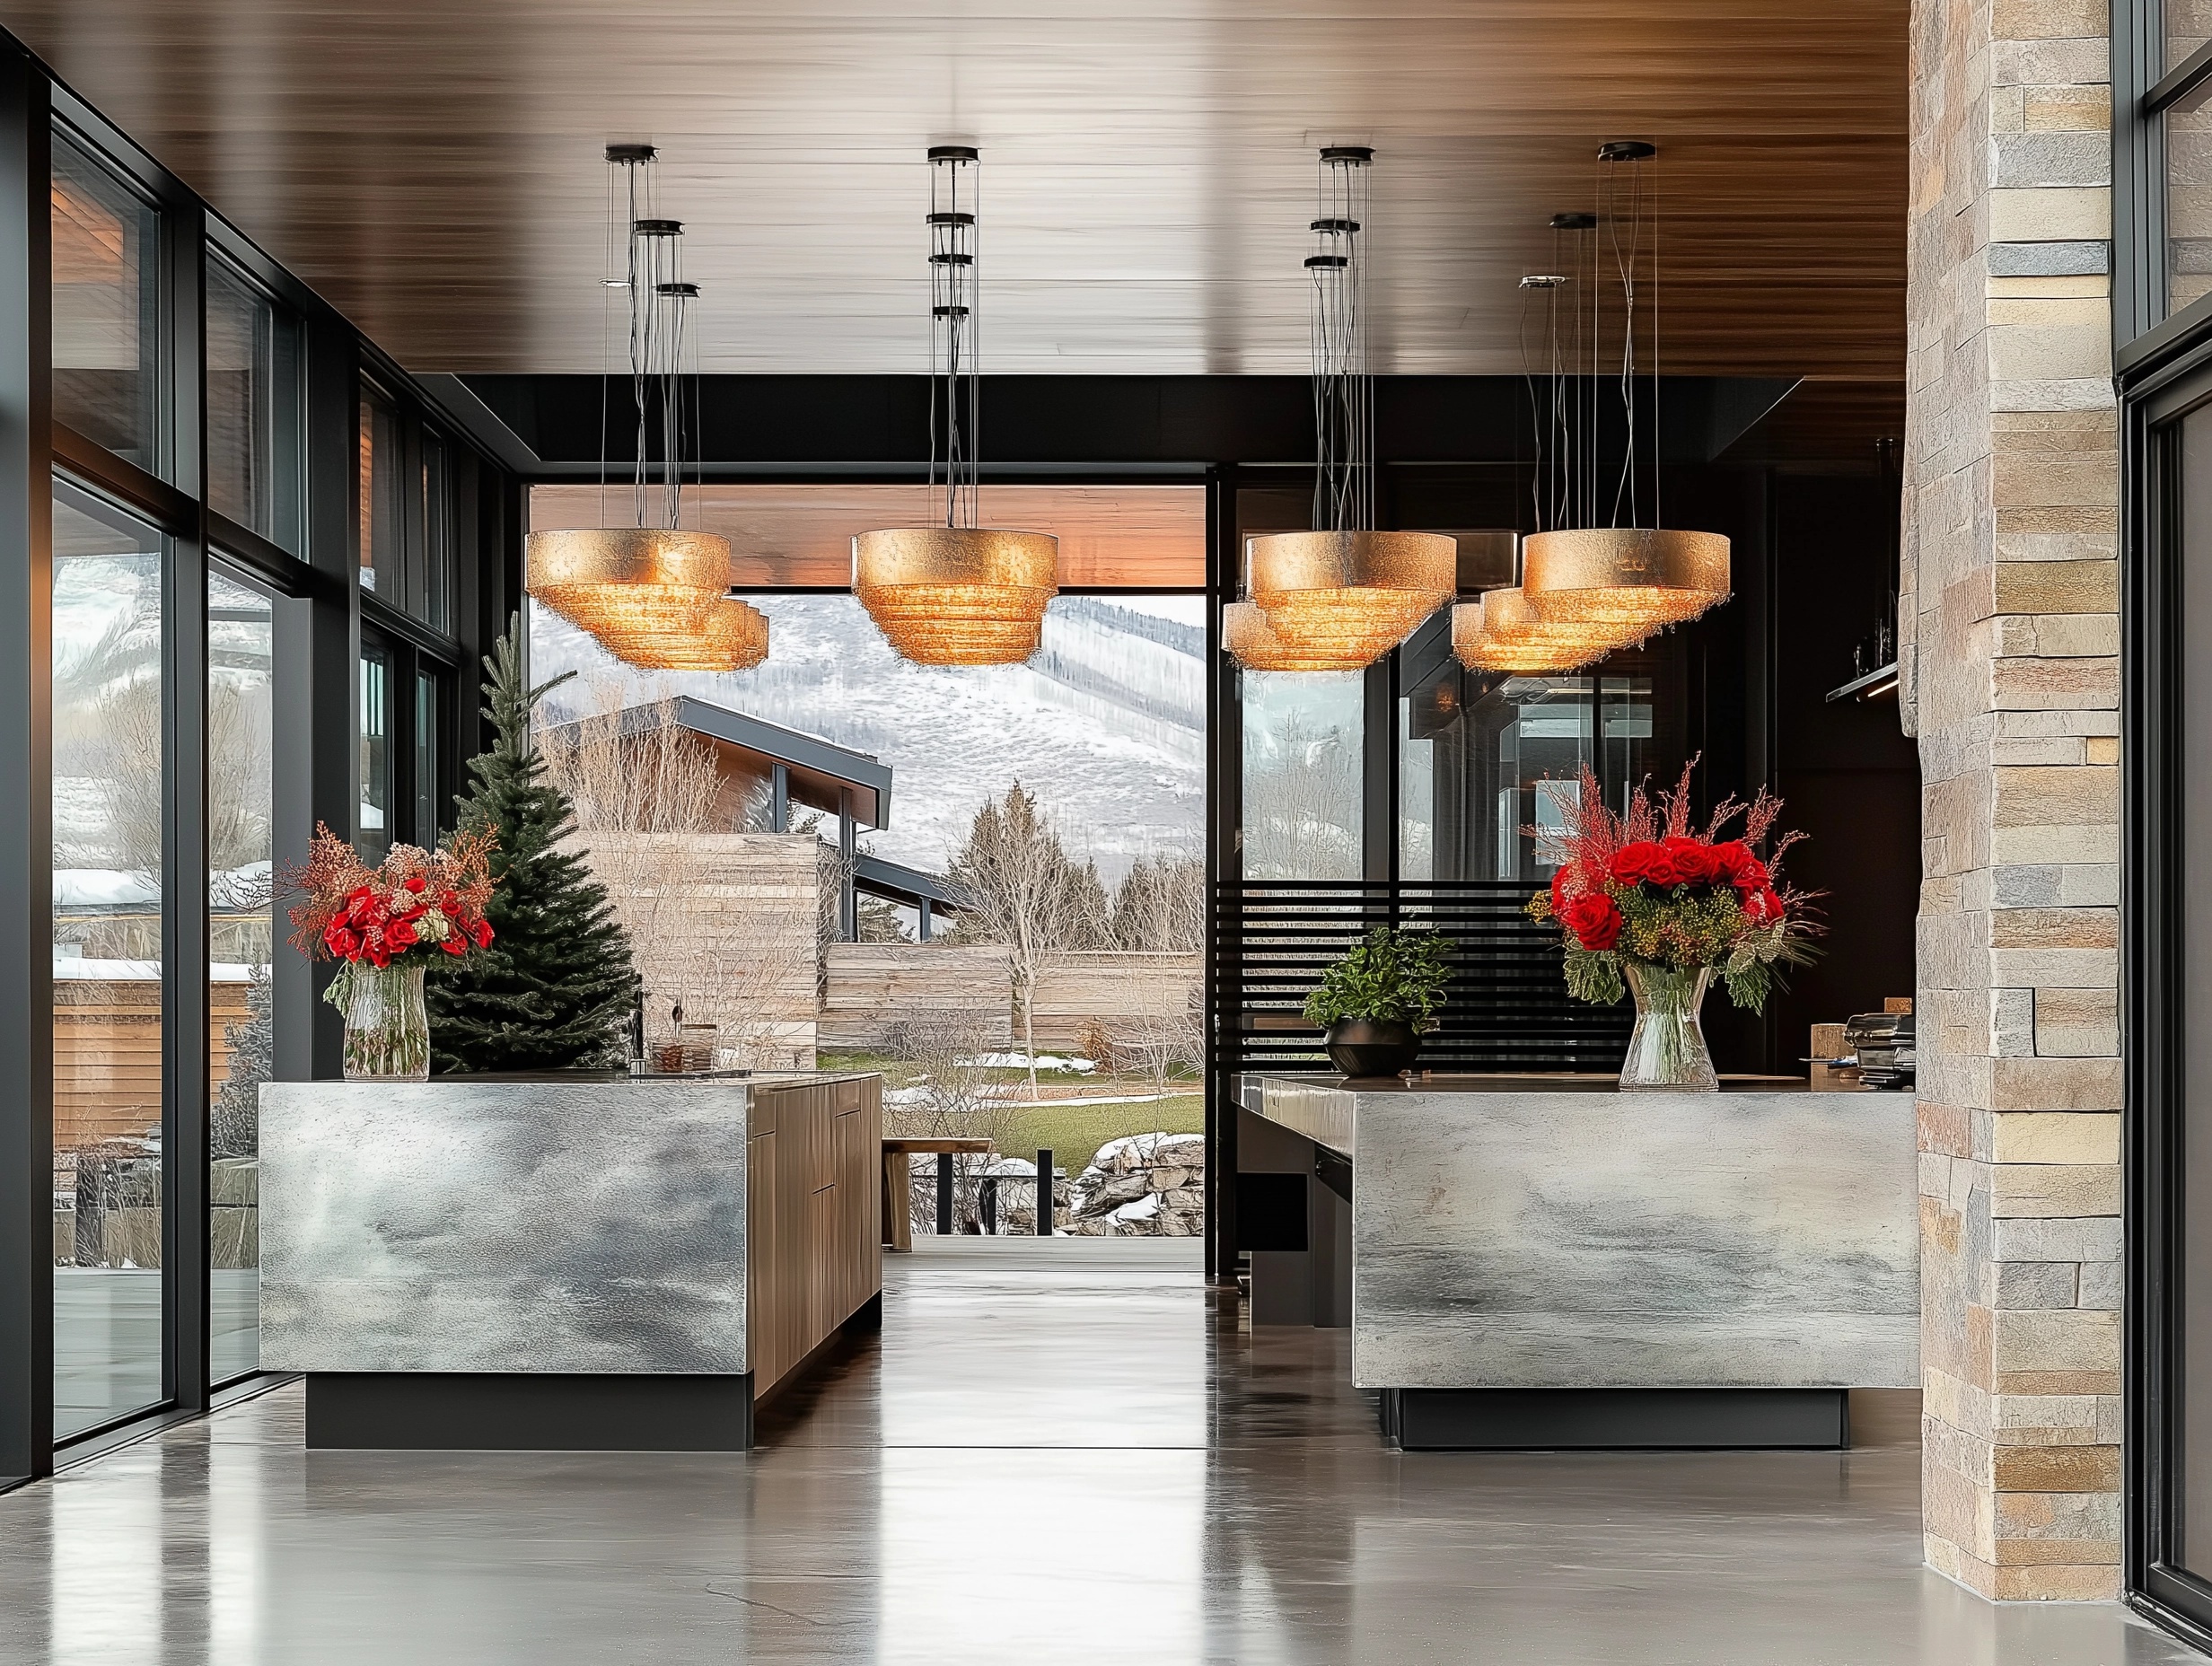
M980 144L993 372L1298 372L1314 146L1378 146L1385 372L1517 374L1593 153L1661 146L1668 369L1902 365L1902 0L0 0L418 372L611 363L606 139L717 372L916 372L922 148Z

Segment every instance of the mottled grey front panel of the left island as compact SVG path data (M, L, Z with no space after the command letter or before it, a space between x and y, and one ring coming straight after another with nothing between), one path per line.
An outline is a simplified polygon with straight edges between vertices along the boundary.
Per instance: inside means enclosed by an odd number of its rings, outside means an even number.
M270 1082L274 1372L743 1374L743 1082Z

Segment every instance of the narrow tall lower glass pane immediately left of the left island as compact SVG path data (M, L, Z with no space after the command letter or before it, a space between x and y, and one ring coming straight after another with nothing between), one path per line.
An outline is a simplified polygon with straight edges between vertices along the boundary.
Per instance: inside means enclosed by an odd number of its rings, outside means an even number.
M274 611L208 573L208 1381L261 1367L261 1084L270 962Z

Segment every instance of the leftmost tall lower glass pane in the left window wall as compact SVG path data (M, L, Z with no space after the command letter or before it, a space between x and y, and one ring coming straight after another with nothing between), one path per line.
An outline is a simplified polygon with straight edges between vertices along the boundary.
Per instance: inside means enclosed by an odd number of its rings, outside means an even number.
M53 1434L161 1398L161 564L53 502Z

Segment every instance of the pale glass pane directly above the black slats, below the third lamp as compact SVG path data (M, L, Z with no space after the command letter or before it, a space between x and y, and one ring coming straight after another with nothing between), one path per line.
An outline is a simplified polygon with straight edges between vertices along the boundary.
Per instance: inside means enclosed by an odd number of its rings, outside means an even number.
M1243 876L1360 878L1367 677L1243 670Z

